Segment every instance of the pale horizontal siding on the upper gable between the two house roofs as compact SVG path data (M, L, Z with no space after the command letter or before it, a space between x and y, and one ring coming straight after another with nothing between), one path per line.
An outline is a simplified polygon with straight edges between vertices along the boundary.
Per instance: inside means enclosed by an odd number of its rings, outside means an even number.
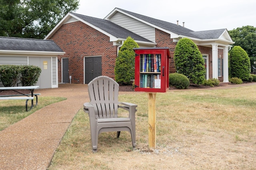
M152 42L156 42L156 36L155 36L155 28L147 25L146 23L143 23L141 21L135 20L134 18L131 18L129 16L126 16L120 12L117 12L114 14L110 21L116 23L117 25L120 25L121 27L124 27L128 29L129 31L132 31Z

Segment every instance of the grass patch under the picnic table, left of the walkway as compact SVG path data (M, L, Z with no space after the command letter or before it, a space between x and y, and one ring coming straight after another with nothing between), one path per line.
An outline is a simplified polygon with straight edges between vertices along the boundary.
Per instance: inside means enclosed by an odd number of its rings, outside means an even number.
M38 105L33 107L30 111L26 111L25 102L26 100L1 100L0 101L0 131L9 127L10 125L24 119L28 115L35 111L56 103L66 100L61 97L41 97L38 98ZM35 100L34 100L35 102ZM31 105L31 101L28 101L28 107Z

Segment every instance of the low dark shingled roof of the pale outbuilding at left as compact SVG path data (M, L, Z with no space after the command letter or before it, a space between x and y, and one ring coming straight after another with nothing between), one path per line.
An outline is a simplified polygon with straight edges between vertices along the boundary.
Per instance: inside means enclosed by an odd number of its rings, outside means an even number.
M52 40L0 37L0 50L63 52Z

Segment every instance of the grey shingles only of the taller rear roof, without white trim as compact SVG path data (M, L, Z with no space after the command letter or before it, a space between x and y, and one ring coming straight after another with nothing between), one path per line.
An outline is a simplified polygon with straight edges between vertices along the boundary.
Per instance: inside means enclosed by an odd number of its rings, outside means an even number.
M116 8L116 9L121 10L122 12L130 14L141 20L144 20L148 23L157 25L158 27L161 27L163 29L176 33L177 35L184 35L186 37L192 37L192 38L198 38L198 39L218 39L220 35L222 35L222 33L226 30L226 29L217 29L217 30L210 30L210 31L192 31L191 29L188 29L181 25L177 25L177 24L162 21L162 20L157 20L141 14L136 14L134 12L122 10L120 8Z

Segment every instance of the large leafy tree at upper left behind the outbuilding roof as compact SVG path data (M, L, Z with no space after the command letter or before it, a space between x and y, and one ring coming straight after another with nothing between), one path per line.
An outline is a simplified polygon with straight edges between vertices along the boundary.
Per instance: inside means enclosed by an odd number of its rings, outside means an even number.
M0 0L0 36L43 39L79 0Z

